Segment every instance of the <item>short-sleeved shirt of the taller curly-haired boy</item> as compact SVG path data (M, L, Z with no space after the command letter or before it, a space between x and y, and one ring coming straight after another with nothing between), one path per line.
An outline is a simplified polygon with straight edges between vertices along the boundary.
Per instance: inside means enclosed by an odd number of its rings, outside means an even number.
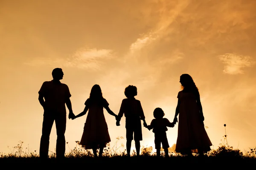
M126 98L122 100L122 104L118 113L119 117L138 117L140 119L145 119L143 108L141 106L140 100L135 98Z

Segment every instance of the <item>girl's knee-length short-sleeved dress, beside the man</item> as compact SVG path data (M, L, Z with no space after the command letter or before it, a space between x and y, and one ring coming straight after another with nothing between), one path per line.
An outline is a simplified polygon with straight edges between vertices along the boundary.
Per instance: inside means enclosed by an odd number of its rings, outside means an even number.
M84 131L81 137L81 144L85 149L93 149L93 147L99 148L99 144L106 144L111 142L108 125L105 120L103 108L109 104L106 99L93 101L93 99L87 99L84 105L89 107L88 115L84 123Z

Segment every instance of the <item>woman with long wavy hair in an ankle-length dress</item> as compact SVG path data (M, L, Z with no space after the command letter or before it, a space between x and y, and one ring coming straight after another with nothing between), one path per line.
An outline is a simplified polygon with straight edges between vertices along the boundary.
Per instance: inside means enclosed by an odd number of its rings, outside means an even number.
M173 122L178 122L176 152L191 156L210 150L212 143L204 128L204 114L200 94L189 74L180 76L181 91L178 92L177 107Z

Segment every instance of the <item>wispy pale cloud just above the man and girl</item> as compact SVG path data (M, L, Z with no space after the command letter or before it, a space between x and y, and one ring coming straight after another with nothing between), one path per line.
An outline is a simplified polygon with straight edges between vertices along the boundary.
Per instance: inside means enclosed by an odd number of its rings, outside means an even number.
M113 51L109 49L82 48L68 58L36 58L26 65L60 65L61 67L76 67L79 69L99 70L105 59L111 59Z

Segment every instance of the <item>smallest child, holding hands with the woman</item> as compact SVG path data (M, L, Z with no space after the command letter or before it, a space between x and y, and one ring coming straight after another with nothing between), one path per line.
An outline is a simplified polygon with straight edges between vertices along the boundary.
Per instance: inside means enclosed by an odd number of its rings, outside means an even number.
M161 149L161 143L163 150L165 152L165 157L169 157L169 143L166 136L166 131L168 130L167 127L174 127L175 123L169 122L168 119L163 118L165 113L161 108L155 108L153 112L154 118L150 125L147 126L148 130L153 129L154 133L154 143L155 148L157 150L157 156L160 156L160 149Z

